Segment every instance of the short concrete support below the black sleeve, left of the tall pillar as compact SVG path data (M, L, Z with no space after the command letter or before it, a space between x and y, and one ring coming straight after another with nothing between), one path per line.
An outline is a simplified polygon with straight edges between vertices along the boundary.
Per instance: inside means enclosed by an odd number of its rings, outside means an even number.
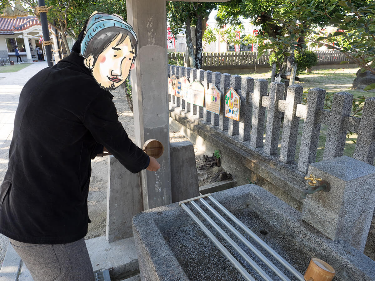
M139 173L129 172L114 156L108 157L107 241L132 237L132 218L142 211Z

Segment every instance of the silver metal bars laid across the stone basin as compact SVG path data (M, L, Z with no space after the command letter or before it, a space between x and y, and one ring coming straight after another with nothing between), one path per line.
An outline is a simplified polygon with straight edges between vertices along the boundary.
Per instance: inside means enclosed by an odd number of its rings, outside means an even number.
M231 253L217 240L217 238L204 226L204 224L196 217L195 214L186 206L185 203L190 203L193 208L195 208L208 223L214 227L214 229L243 257L243 259L248 262L248 264L266 281L271 281L272 278L260 268L260 266L236 244L236 242L231 239L228 234L221 229L212 218L202 210L194 201L199 200L221 223L223 223L240 241L243 242L265 265L267 265L273 272L275 272L278 277L283 281L291 281L280 269L278 269L267 257L265 257L254 245L251 244L241 233L239 233L225 218L223 218L210 204L207 203L203 198L207 197L211 202L217 206L221 211L224 212L231 220L233 220L238 226L240 226L246 233L248 233L251 238L253 238L259 245L261 245L268 253L270 253L275 259L277 259L288 271L290 271L298 280L305 281L303 275L300 274L290 263L283 259L278 253L276 253L272 248L269 247L262 239L260 239L254 232L252 232L248 227L245 226L240 220L238 220L231 212L229 212L223 205L217 202L210 194L198 196L188 200L179 202L179 205L189 214L189 216L195 221L196 224L202 229L202 231L211 239L212 242L219 248L219 250L224 254L224 256L236 267L236 269L243 275L246 280L254 280L254 278L249 274L248 271L232 256Z

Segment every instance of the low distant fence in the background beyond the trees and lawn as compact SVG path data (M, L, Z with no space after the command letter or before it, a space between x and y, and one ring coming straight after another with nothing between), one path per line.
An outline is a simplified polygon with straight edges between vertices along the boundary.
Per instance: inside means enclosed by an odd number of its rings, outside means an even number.
M344 53L338 51L317 51L319 64L339 64L341 61L347 61ZM168 53L168 61L183 61L185 53ZM202 68L205 66L249 66L254 67L270 66L269 55L263 54L257 60L256 52L204 52Z

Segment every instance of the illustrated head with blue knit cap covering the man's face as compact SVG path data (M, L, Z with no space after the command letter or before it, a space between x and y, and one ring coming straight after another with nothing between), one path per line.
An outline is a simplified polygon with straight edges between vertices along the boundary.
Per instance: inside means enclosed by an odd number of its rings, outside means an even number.
M133 28L120 16L94 12L87 21L81 56L96 82L114 90L134 67L137 44Z

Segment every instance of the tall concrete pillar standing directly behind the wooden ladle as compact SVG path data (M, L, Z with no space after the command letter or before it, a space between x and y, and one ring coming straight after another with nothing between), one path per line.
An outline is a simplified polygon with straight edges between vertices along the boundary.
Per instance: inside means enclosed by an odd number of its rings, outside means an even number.
M136 144L157 139L164 146L155 172L141 172L144 209L171 203L165 0L126 0L127 19L138 37L131 72ZM157 186L156 186L157 176Z

